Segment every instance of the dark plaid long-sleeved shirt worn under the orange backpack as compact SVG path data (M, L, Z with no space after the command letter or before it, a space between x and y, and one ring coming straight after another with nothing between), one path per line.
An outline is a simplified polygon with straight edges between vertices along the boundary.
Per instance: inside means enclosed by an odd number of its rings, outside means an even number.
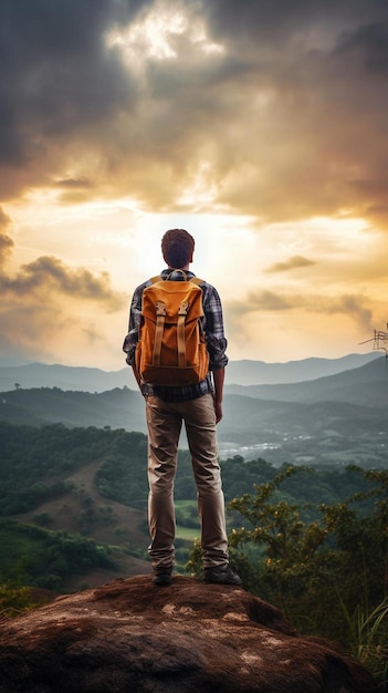
M165 269L160 277L167 279L170 270ZM190 271L187 271L187 277L195 277ZM146 287L149 287L151 281L148 279L141 283L134 291L129 311L129 328L128 333L124 340L123 351L127 354L126 362L128 365L135 363L135 349L139 338L139 328L141 322L141 298L143 291ZM202 318L202 327L205 331L206 344L209 352L209 370L214 371L217 369L224 368L228 363L227 339L223 332L223 318L222 306L217 289L207 281L200 285L202 289L202 307L205 317ZM166 402L182 402L186 400L195 400L203 394L213 392L211 375L196 385L186 386L156 386L147 383L141 383L141 392L144 395L156 395Z

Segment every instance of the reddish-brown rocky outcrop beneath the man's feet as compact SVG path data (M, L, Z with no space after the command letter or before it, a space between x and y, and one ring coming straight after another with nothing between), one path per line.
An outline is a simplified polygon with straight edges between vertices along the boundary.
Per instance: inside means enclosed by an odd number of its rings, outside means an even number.
M1 693L371 693L332 643L237 587L116 580L3 622Z

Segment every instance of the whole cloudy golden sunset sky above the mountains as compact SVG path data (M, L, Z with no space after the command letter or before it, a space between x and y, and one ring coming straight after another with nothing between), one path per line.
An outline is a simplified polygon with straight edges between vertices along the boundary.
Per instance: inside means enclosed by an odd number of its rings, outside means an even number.
M125 368L169 228L231 360L371 351L387 0L1 0L0 84L0 363Z

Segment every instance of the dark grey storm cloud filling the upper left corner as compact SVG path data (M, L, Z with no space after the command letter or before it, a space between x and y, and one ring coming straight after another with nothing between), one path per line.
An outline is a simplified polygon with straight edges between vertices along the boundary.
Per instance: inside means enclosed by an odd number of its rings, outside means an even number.
M136 86L106 50L105 35L147 4L2 0L0 163L31 166L46 156L53 137L76 135L117 108L130 108Z

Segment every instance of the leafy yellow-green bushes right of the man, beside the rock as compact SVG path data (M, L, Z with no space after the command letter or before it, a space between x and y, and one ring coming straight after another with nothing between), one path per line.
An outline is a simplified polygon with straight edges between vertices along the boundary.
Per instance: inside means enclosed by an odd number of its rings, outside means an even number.
M230 536L232 560L244 587L277 606L300 632L342 642L385 681L388 472L348 467L342 480L354 493L336 505L316 506L302 503L306 474L319 475L284 465L272 480L255 485L253 495L230 501L240 516ZM297 487L300 499L291 501L290 490ZM188 569L200 570L198 544Z

